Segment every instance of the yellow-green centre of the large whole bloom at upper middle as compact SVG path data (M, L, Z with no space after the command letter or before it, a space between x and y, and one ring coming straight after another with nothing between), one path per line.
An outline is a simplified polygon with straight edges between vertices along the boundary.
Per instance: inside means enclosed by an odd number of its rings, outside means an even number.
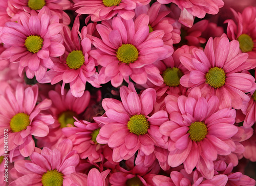
M117 59L126 64L135 62L138 59L138 56L139 52L132 44L122 44L116 52Z

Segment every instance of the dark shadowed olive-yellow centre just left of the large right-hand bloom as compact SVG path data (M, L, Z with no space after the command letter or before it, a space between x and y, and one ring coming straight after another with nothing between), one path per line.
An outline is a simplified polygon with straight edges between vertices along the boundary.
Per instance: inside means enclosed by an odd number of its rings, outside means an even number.
M178 87L180 85L180 78L182 75L183 73L179 68L168 67L162 74L163 82L170 87Z

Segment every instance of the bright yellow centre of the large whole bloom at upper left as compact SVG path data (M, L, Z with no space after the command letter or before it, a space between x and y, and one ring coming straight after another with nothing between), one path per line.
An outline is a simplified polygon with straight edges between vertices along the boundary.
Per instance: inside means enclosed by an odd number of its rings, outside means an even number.
M40 36L29 36L25 41L26 48L33 53L38 52L42 48L42 42L44 40Z

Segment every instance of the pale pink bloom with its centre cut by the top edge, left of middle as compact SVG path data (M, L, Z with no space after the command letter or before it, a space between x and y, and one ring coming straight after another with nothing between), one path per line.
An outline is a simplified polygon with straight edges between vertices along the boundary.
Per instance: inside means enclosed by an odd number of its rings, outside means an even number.
M78 14L88 14L86 23L91 18L92 21L97 22L101 20L108 20L116 14L123 19L132 19L135 15L134 9L137 6L143 6L150 3L150 0L93 0L77 2L73 8L77 9Z

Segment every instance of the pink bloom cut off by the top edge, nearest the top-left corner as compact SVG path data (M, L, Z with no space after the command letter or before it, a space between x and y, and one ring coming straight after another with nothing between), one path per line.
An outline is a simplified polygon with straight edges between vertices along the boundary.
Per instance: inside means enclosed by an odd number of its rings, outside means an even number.
M17 12L25 11L31 13L33 10L39 12L43 7L47 7L52 15L58 16L61 23L70 24L69 15L63 11L71 8L69 0L8 0L8 4L8 14L14 15L12 21L18 16L15 15Z

